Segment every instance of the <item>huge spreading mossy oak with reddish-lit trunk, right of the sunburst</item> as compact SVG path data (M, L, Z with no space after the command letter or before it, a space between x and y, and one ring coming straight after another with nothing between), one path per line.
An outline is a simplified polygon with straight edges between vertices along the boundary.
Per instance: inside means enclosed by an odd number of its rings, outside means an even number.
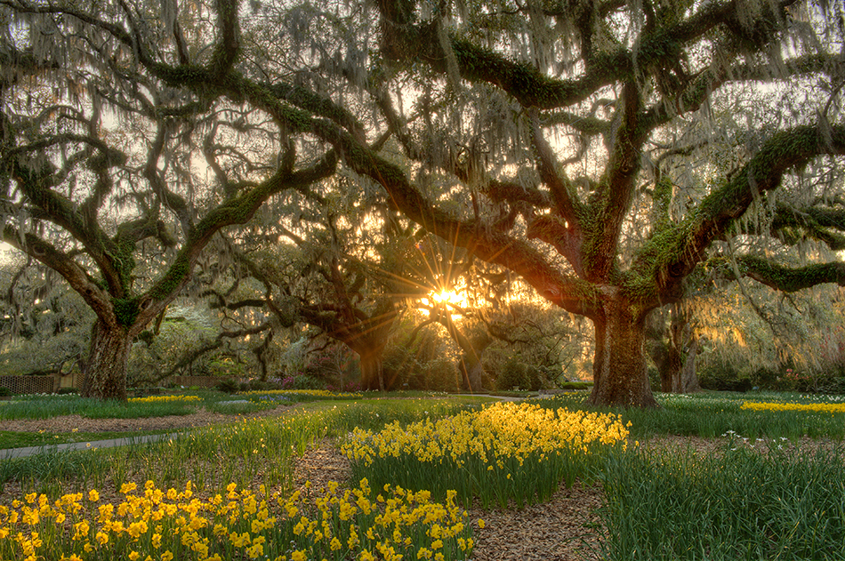
M645 320L683 297L712 244L744 236L752 206L774 209L795 200L786 188L815 189L799 198L821 208L795 212L795 228L841 222L826 186L785 180L845 153L839 4L384 0L378 10L380 52L392 63L378 98L385 121L406 157L454 178L449 195L466 204L447 208L422 180L383 165L360 169L380 174L426 228L591 319L592 403L656 405ZM402 99L405 83L419 89L415 103ZM665 161L720 142L715 100L753 102L763 86L809 108L774 130L745 124L761 134L736 146L728 172L701 158L661 173ZM836 260L734 260L739 274L783 290L845 282Z

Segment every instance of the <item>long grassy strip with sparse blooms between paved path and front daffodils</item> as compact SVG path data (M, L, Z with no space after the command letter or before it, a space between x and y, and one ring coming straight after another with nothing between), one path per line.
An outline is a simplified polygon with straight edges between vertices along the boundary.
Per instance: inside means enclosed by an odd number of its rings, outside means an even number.
M299 405L283 417L186 430L155 443L2 461L0 485L18 481L28 490L62 493L148 479L157 485L184 485L190 479L199 489L233 482L285 486L291 483L294 456L326 437L344 436L357 426L380 429L392 421L442 417L479 402L475 397L320 401Z

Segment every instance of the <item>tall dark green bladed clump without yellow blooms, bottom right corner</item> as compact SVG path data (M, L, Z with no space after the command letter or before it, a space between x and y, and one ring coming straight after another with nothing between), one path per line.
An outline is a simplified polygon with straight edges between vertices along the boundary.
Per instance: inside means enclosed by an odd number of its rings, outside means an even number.
M611 457L605 557L843 559L842 450L632 450Z

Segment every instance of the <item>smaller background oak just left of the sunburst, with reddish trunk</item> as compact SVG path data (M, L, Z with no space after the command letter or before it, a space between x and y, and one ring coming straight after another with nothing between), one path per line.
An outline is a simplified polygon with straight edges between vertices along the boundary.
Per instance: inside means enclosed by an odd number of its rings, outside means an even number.
M338 190L347 180L336 177L308 197L264 209L268 216L246 228L254 231L241 236L236 257L240 278L259 290L221 302L260 307L282 325L309 325L340 341L358 355L361 388L383 390L384 349L411 288L402 272L414 228L400 224L382 197Z

